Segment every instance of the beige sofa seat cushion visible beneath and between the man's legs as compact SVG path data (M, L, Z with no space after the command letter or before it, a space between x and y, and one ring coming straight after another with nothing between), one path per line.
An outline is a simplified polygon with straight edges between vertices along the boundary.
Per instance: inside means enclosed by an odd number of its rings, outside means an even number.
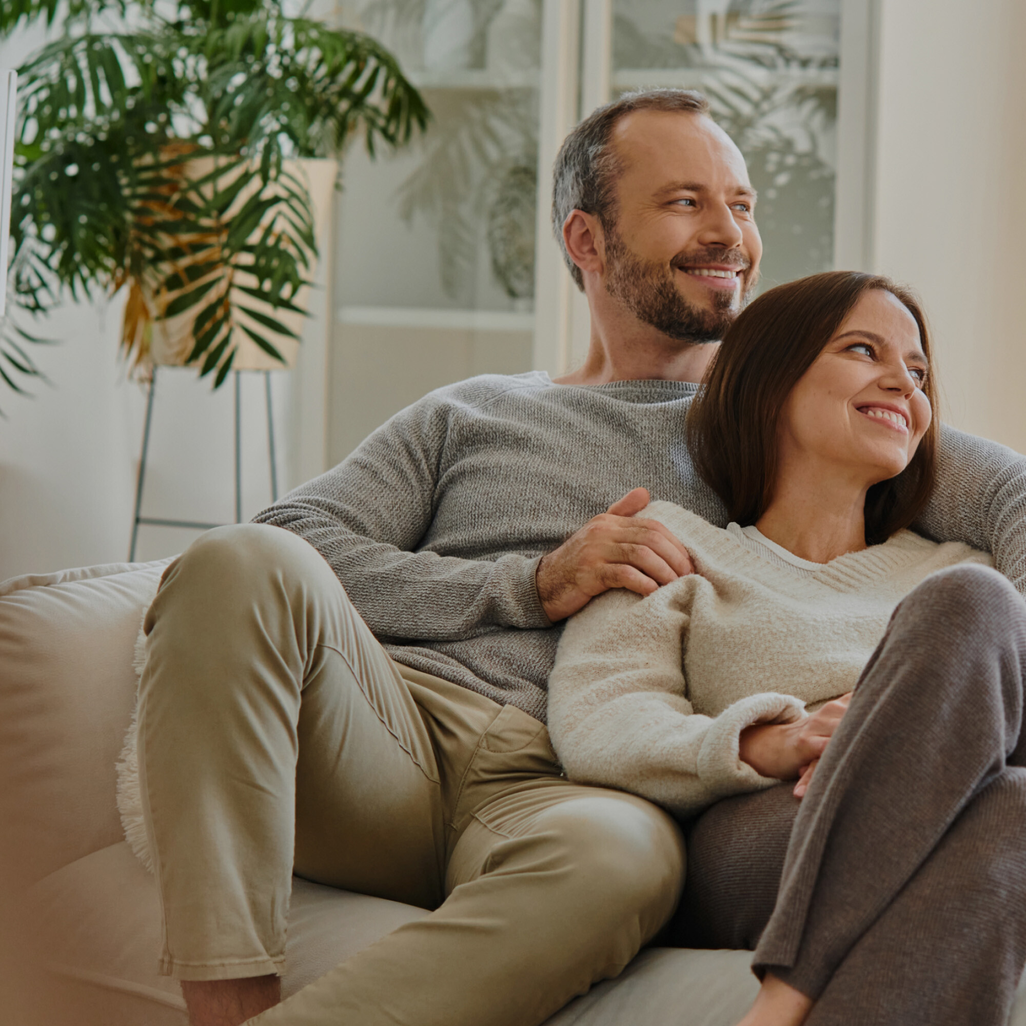
M50 873L32 899L63 1026L185 1026L179 984L157 973L156 882L125 841ZM424 915L421 908L293 878L283 994ZM645 951L548 1026L675 1022L682 1009L694 1026L733 1026L757 989L750 960L747 951Z

